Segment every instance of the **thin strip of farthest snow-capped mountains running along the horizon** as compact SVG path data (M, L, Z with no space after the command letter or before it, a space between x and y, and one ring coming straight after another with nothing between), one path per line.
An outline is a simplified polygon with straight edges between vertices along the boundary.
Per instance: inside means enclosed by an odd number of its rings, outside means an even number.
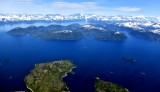
M141 21L141 22L159 22L160 17L145 17L145 16L100 16L95 14L0 14L1 22L8 21L31 21L31 20L46 20L46 21L62 21L62 20L100 20L100 21Z

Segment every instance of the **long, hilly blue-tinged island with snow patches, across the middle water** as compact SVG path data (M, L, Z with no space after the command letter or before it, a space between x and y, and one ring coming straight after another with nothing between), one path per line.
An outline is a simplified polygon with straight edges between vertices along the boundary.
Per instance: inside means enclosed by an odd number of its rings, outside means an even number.
M14 36L30 35L32 37L45 40L79 40L88 36L94 37L96 40L113 40L123 41L127 36L119 31L108 30L98 24L71 24L68 26L50 25L30 26L27 28L14 28L8 31L8 34Z

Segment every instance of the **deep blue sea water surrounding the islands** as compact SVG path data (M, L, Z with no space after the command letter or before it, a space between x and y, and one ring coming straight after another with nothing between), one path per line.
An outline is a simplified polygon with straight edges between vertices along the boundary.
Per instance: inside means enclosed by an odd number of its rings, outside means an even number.
M75 74L64 78L71 92L94 92L94 77L97 76L118 83L131 92L160 92L160 42L131 35L124 42L92 38L46 41L8 35L6 31L14 27L0 27L0 92L27 90L24 77L36 63L62 59L73 60L77 65L73 70ZM123 61L123 56L137 61ZM5 58L10 61L4 62Z

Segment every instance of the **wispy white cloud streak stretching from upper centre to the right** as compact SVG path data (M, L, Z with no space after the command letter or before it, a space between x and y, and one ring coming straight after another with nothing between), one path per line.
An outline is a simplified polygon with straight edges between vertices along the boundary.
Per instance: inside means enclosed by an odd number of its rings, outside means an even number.
M135 12L140 11L141 8L137 7L104 7L99 6L96 2L81 2L81 3L70 3L70 2L53 2L53 7L56 8L67 8L67 9L79 9L79 10L114 10L123 12Z

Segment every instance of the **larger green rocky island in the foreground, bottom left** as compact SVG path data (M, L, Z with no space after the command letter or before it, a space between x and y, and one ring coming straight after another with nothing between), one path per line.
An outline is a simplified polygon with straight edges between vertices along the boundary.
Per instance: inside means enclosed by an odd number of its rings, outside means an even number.
M25 83L32 92L68 92L62 78L75 67L69 60L36 64L25 77Z

